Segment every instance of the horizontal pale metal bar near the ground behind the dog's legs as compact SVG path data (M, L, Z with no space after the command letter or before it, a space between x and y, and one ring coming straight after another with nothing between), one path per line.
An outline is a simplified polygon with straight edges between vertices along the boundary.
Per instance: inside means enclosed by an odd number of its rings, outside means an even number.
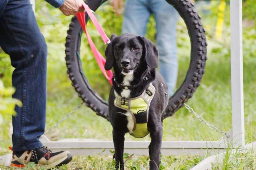
M69 150L72 155L110 154L115 150L112 141L97 139L62 139L49 141L45 136L42 142L54 152ZM136 155L148 155L150 141L125 141L124 152ZM224 141L163 141L161 153L164 155L218 154L227 148Z

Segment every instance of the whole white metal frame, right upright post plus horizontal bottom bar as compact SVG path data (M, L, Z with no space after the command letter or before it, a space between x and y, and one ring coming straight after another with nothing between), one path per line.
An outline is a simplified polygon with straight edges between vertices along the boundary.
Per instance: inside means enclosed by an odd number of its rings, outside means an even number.
M34 1L34 0L32 0ZM243 54L242 54L242 0L230 1L231 29L231 95L232 95L232 143L234 148L244 146L243 111ZM231 134L231 133L230 133ZM109 154L114 150L112 141L96 139L62 139L50 141L44 135L41 141L54 151L70 150L73 155ZM223 152L227 140L222 141L163 141L162 153L167 155ZM148 155L149 141L125 141L125 152ZM104 152L103 152L104 151Z

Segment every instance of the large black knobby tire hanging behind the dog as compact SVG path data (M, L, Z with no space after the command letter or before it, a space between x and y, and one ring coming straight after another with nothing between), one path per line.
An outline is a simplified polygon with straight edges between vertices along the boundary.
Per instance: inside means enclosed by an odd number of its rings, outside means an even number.
M86 3L93 11L96 11L105 1L106 0L87 0ZM172 116L184 105L183 103L187 102L193 96L193 93L200 85L202 75L205 73L207 60L205 29L202 26L201 17L195 10L194 5L189 0L166 1L176 8L185 21L191 41L191 60L183 83L176 90L174 95L169 98L163 118ZM67 73L78 96L86 105L96 112L97 115L109 120L107 102L92 89L86 77L81 73L82 64L77 57L77 53L79 54L80 52L81 32L82 28L77 18L74 16L69 25L69 30L67 31L65 44Z

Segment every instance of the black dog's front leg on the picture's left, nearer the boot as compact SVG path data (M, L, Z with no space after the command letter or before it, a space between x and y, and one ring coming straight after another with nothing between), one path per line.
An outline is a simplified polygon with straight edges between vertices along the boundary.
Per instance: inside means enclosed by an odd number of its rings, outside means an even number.
M123 148L124 148L124 133L113 130L113 141L115 147L115 159L116 159L116 169L123 170L124 162L123 162Z

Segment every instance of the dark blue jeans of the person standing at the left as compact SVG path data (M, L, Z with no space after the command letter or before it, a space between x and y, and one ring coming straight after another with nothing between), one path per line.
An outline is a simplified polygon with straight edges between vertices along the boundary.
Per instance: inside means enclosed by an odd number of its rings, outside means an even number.
M10 55L15 68L13 98L23 106L15 107L13 150L24 151L42 146L46 113L47 46L36 23L29 0L0 1L0 46Z

